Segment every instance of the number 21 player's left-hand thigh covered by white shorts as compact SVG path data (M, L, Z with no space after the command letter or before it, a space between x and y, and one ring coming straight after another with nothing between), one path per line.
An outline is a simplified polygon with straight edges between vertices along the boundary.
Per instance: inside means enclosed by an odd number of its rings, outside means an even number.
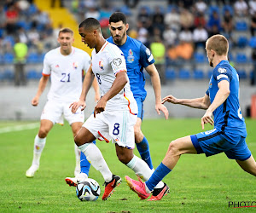
M41 120L50 120L53 124L63 124L62 103L58 101L47 101L41 114Z

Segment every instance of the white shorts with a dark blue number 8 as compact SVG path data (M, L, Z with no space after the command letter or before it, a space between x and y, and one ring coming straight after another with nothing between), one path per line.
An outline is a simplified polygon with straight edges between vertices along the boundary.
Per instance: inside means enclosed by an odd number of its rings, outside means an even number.
M86 128L97 139L104 139L117 143L120 147L133 149L135 147L134 125L137 115L130 112L101 112L90 115L83 127Z

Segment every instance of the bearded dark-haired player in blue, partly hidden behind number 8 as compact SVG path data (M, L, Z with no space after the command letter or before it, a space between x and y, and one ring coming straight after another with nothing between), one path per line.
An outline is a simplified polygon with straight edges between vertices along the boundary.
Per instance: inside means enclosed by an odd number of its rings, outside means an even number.
M151 82L154 88L155 96L155 110L158 114L160 111L164 112L166 119L168 118L168 110L161 103L161 87L160 77L154 66L154 57L150 50L146 48L143 43L137 41L134 38L127 36L127 30L129 25L126 22L125 14L120 12L113 13L109 18L109 30L112 37L109 37L107 41L109 43L116 44L119 49L125 55L125 62L127 67L127 75L131 84L131 91L135 100L137 101L138 113L137 122L134 126L135 142L137 150L139 151L141 158L148 164L151 170L154 169L152 159L149 152L148 140L143 135L141 125L143 121L143 101L146 98L147 91L145 87L145 77L143 68L148 72L151 77ZM84 155L81 155L81 168L88 168L88 161L84 160ZM88 173L86 174L88 176ZM66 181L71 186L76 186L78 181L81 181L83 172L75 178L67 177ZM157 193L156 191L154 194Z

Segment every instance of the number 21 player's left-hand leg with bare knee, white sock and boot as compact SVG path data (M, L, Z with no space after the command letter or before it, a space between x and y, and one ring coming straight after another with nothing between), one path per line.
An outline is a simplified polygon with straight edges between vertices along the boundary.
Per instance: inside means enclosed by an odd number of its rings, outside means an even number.
M41 154L44 150L44 146L46 142L46 136L48 135L49 130L52 129L53 125L54 124L50 120L47 120L47 119L41 120L38 135L36 135L34 140L32 166L28 170L26 170L27 177L33 177L35 172L38 170Z

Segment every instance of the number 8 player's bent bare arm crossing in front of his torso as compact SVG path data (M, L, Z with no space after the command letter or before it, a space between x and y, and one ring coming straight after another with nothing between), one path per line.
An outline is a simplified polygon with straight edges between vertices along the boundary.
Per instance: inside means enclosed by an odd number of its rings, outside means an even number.
M112 87L108 90L108 92L102 96L100 101L97 102L96 107L94 108L94 117L96 117L97 113L101 113L105 110L107 105L107 101L112 99L113 96L117 95L121 89L125 87L125 84L128 82L128 76L125 71L118 72L116 74L116 78L113 81Z

